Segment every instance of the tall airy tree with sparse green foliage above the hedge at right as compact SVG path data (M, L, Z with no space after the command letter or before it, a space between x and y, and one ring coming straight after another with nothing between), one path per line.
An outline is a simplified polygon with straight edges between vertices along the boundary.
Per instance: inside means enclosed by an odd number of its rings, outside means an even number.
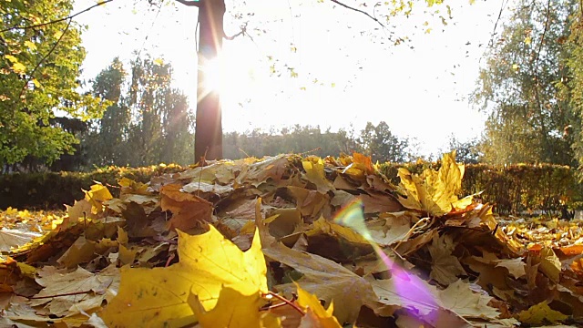
M493 40L474 93L489 112L480 148L486 162L573 164L572 138L563 133L573 116L560 81L568 77L562 44L576 3L519 0Z

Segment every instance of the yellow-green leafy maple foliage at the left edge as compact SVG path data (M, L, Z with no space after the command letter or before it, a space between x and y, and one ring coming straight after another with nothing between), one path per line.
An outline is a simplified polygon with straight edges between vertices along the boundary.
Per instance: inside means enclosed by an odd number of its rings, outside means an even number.
M0 163L27 156L52 162L73 152L77 138L56 113L93 118L98 99L77 92L85 57L81 28L70 19L71 0L12 0L0 5ZM61 114L62 116L62 114Z

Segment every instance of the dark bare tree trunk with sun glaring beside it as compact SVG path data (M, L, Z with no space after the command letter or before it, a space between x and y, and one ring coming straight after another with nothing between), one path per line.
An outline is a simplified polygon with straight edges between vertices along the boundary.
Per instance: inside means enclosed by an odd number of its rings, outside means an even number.
M197 116L195 130L195 161L222 159L222 125L218 90L205 88L205 73L201 69L215 58L222 48L224 0L199 2L199 70ZM216 74L216 73L215 73Z

